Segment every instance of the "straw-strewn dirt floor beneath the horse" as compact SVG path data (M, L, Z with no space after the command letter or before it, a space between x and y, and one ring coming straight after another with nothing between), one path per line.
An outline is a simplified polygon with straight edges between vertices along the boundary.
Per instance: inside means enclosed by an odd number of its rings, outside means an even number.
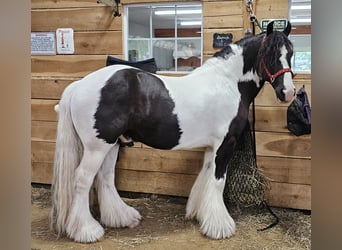
M48 187L32 186L31 249L311 249L311 215L307 211L272 208L279 224L260 232L257 229L274 221L265 208L231 208L236 234L211 240L201 235L196 221L184 219L185 198L157 195L124 198L143 217L136 228L106 228L105 236L96 243L75 243L57 239L49 230L50 195Z

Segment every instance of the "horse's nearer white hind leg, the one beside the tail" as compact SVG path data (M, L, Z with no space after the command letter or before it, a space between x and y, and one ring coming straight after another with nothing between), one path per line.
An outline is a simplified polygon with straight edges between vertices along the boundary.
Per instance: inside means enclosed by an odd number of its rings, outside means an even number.
M66 227L68 236L75 241L94 242L104 234L103 227L90 213L89 190L110 147L111 145L104 145L97 147L96 151L85 147L80 165L76 169L73 202Z

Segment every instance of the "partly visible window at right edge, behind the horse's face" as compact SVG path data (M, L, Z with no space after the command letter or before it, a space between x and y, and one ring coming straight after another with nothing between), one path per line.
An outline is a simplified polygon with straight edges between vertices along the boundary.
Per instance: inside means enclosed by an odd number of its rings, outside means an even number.
M290 40L294 46L292 69L296 73L311 73L311 0L290 1Z

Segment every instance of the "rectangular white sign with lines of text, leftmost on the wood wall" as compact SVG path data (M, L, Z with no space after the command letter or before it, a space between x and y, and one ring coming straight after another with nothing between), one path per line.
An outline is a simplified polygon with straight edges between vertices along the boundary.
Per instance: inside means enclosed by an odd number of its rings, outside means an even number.
M55 33L32 32L31 55L56 55Z

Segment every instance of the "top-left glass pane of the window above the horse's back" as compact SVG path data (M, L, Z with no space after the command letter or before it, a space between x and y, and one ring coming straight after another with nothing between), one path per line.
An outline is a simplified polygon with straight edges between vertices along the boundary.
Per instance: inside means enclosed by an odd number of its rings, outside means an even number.
M150 7L128 8L128 38L150 37Z

